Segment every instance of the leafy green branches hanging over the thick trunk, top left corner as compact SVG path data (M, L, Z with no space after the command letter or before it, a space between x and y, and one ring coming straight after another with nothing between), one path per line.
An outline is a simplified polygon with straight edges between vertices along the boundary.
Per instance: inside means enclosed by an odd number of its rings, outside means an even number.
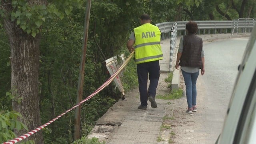
M12 22L16 21L27 34L35 37L40 32L40 27L46 22L47 18L53 19L55 16L63 19L65 14L70 14L73 7L80 7L82 0L54 0L45 4L33 4L26 0L12 0L13 10L10 12ZM6 17L6 11L1 9L0 14Z

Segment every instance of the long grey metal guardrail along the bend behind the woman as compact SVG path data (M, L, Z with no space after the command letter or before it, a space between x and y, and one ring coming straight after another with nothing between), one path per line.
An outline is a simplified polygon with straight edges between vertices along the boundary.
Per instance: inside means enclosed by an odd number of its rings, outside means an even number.
M256 19L253 18L239 18L234 20L224 21L195 21L198 24L198 34L222 34L230 33L239 34L244 32L251 32ZM186 34L186 23L188 21L179 22L162 22L156 24L162 32L161 39L165 40L170 38L172 25L177 23L177 36Z

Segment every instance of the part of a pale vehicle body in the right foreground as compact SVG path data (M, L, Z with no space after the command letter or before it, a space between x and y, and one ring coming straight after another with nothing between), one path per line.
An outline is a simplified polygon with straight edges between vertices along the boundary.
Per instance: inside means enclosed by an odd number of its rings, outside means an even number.
M216 144L256 144L256 25L238 70Z

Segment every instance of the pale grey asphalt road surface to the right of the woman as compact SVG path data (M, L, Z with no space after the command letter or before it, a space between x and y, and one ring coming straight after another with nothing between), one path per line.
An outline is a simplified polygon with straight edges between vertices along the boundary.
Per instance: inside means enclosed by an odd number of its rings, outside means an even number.
M206 134L214 144L221 132L226 110L248 38L236 38L204 44L205 70L198 82L204 96L198 98L201 114L195 117L195 131Z

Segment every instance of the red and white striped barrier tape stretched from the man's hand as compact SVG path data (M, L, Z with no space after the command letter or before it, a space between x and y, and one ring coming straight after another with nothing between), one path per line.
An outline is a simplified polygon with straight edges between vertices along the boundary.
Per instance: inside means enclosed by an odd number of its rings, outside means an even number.
M57 116L56 118L52 119L51 121L47 122L46 124L22 135L19 136L18 138L14 138L12 140L9 140L8 142L4 142L2 144L15 144L21 140L24 140L26 138L28 138L29 136L32 136L33 134L35 134L36 132L42 130L43 128L45 128L46 126L48 126L49 124L51 124L52 122L56 121L58 118L62 117L64 114L70 112L71 110L73 110L74 108L80 106L82 103L86 102L87 100L89 100L90 98L92 98L93 96L95 96L96 94L98 94L100 91L102 91L104 88L106 88L109 84L111 84L111 82L114 81L114 78L116 78L120 72L124 69L124 66L126 66L126 64L130 61L132 55L134 54L134 52L132 52L128 58L126 58L126 60L124 61L124 63L118 68L118 70L116 70L116 72L114 72L114 74L112 76L110 76L110 78L108 78L108 80L106 80L106 82L104 82L97 90L95 90L92 94L90 94L90 96L88 96L87 98L85 98L84 100L82 100L81 102L79 102L78 104L76 104L75 106L73 106L72 108L70 108L69 110L67 110L66 112L63 112L62 114L60 114L59 116Z

